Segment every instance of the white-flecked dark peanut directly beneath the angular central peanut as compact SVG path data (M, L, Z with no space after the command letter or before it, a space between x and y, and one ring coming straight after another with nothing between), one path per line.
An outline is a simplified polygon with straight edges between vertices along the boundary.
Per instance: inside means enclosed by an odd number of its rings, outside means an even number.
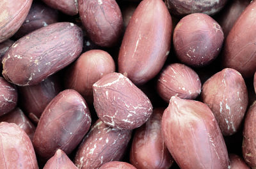
M74 159L77 168L99 168L109 161L119 161L131 139L132 131L111 128L98 120L84 137Z

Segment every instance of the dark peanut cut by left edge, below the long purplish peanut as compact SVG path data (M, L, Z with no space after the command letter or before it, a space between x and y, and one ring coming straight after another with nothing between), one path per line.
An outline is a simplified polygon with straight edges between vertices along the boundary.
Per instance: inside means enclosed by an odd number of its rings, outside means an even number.
M13 110L17 101L18 93L15 86L0 77L0 116Z

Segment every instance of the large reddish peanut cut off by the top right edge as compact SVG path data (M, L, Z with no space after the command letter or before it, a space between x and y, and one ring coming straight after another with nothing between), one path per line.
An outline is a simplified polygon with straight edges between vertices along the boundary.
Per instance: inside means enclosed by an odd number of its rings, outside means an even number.
M225 40L223 48L223 66L234 68L243 77L253 77L256 71L256 1L252 1L236 23Z

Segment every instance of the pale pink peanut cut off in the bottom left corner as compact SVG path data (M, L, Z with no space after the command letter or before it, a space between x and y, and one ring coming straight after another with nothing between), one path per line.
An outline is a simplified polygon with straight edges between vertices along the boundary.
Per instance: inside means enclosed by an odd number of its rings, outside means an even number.
M0 123L0 168L38 169L36 154L28 135L16 124Z

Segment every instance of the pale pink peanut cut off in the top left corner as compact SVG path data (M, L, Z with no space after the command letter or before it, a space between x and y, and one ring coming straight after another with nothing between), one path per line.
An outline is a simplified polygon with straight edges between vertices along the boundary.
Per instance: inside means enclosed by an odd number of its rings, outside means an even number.
M1 0L0 2L0 43L7 40L24 22L32 0Z

